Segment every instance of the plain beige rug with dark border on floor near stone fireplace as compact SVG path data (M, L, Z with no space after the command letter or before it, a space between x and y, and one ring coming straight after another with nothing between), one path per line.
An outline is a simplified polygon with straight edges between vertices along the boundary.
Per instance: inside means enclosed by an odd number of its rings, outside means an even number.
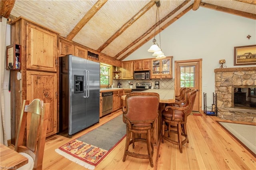
M240 142L251 154L256 157L256 126L244 125L239 123L220 122L220 125L224 127L238 142Z

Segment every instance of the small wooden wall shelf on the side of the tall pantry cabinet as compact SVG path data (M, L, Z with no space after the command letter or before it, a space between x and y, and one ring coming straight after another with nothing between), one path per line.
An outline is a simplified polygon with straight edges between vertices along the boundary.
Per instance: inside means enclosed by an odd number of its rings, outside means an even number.
M18 44L6 47L6 69L19 70L21 65L21 48Z

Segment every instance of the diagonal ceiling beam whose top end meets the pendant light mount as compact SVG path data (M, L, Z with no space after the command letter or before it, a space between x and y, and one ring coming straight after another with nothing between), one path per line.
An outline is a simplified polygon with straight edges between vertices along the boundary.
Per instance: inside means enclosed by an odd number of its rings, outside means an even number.
M136 20L138 20L143 14L145 14L152 6L156 4L155 1L150 1L144 6L137 14L135 14L128 22L126 22L115 34L113 34L104 44L102 44L96 51L101 52L106 46L108 46L114 39L120 36L128 27L130 27Z

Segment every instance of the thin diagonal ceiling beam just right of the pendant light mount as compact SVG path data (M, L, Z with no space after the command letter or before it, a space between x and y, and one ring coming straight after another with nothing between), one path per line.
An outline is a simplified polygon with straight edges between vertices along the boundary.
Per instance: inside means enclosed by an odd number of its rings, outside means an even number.
M175 8L172 12L170 12L169 14L167 14L164 18L162 18L162 20L158 21L156 24L154 24L150 29L148 29L144 34L142 34L142 36L140 36L139 38L137 38L134 42L130 43L127 47L125 47L122 51L120 51L118 54L116 54L116 56L114 56L114 59L116 59L117 57L119 57L122 53L124 53L125 51L127 51L129 48L131 48L134 44L138 43L140 40L142 40L143 38L145 38L146 36L148 36L148 34L150 34L157 26L159 26L160 24L162 24L162 22L164 22L165 20L167 20L168 18L170 18L172 15L174 15L178 10L180 10L183 6L185 6L188 2L190 2L190 0L185 0L182 4L180 4L177 8ZM153 36L154 37L154 36ZM152 38L153 38L152 37ZM133 52L133 51L132 51ZM126 56L127 57L127 56ZM124 57L124 58L126 58ZM123 57L121 59L124 59Z

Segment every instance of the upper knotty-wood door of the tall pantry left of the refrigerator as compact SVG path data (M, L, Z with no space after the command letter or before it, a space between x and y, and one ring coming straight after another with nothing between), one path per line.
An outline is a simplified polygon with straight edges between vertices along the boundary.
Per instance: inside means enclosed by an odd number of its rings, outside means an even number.
M57 71L57 34L27 24L26 68Z

